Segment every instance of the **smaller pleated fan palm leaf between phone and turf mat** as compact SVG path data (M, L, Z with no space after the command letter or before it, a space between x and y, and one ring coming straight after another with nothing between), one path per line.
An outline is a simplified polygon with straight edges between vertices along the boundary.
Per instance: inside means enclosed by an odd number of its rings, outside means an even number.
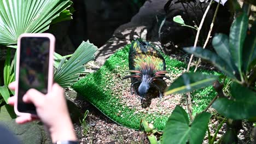
M67 57L60 61L59 67L55 70L54 81L62 87L71 86L85 70L84 64L95 58L96 50L97 47L89 41L83 41L67 62L65 62Z

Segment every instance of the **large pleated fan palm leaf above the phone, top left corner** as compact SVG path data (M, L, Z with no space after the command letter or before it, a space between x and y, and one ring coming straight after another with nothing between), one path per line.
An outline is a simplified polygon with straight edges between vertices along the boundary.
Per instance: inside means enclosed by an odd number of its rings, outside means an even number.
M46 31L51 21L71 4L69 0L0 1L0 44L16 44L22 33Z

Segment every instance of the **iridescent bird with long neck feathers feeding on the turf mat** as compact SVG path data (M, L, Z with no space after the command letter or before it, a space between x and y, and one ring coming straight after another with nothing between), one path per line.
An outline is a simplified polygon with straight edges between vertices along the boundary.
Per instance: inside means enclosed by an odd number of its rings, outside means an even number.
M169 77L165 75L167 74L165 59L159 51L146 41L140 39L133 41L129 52L129 69L131 75L123 79L131 78L131 94L134 91L136 97L142 101L148 89L155 87L159 91L159 97L162 98L162 91L166 87L163 78L169 79Z

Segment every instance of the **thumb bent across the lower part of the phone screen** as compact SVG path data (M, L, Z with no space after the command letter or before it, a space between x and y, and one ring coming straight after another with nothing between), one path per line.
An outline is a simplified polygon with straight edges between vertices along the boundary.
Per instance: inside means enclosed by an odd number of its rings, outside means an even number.
M23 97L25 103L33 103L36 107L43 103L45 95L36 89L30 89Z

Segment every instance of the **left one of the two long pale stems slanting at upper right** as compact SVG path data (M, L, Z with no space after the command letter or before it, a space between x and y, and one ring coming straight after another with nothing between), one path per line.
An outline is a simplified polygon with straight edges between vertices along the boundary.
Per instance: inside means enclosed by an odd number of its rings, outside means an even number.
M205 13L203 14L202 20L200 22L199 28L198 28L197 33L196 33L194 47L196 47L196 44L197 44L197 41L198 41L198 38L199 38L199 34L200 34L201 29L202 29L203 22L205 21L205 17L206 17L206 15L207 15L207 13L208 13L211 5L212 5L212 2L213 2L213 0L210 1L210 4L208 5L208 7L205 10ZM188 64L187 72L190 69L190 65L191 65L191 61L192 61L193 57L194 57L194 55L191 55L191 57L189 59L189 64Z

